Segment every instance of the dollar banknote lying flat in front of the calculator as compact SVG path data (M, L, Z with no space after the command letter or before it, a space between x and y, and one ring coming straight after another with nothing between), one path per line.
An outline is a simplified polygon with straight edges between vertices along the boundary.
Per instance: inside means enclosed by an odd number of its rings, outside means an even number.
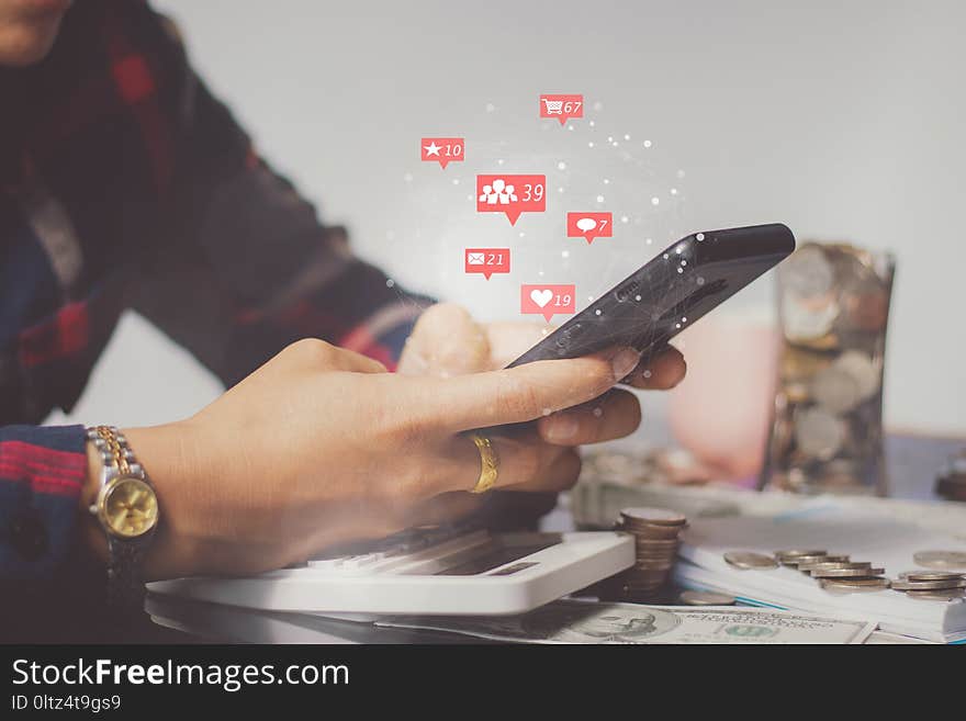
M761 608L641 606L559 600L521 616L394 617L396 628L513 643L863 643L868 621Z

